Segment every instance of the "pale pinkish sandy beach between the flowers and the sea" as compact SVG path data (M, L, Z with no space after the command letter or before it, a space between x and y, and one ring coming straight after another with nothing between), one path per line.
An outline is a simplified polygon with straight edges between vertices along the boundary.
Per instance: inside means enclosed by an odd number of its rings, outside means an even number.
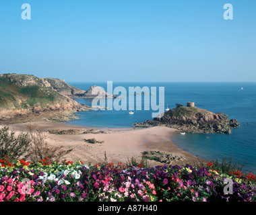
M63 122L33 122L9 125L10 130L15 132L26 132L26 126L34 124L44 130L53 129L75 129L87 128L82 126L73 126ZM3 126L0 126L3 127ZM177 147L171 140L170 136L176 132L173 128L164 126L150 128L95 128L106 131L106 134L47 134L49 146L63 146L65 149L73 149L71 153L65 155L63 159L67 161L82 161L84 163L104 162L104 153L106 152L107 162L117 165L122 162L127 164L128 159L133 157L138 163L141 161L143 151L160 151L171 153L173 156L181 156L185 160L171 163L171 165L185 165L201 163L199 159L185 150ZM85 142L84 139L95 138L104 143L92 144ZM207 162L207 161L204 161ZM164 163L148 160L150 166L164 165Z

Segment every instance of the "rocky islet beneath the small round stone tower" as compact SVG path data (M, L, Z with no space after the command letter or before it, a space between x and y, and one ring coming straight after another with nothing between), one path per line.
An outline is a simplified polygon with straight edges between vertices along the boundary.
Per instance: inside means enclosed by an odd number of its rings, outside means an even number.
M232 128L240 126L237 120L228 120L226 114L215 114L198 107L176 107L165 112L162 118L134 124L137 127L163 125L185 132L225 134L230 134Z

